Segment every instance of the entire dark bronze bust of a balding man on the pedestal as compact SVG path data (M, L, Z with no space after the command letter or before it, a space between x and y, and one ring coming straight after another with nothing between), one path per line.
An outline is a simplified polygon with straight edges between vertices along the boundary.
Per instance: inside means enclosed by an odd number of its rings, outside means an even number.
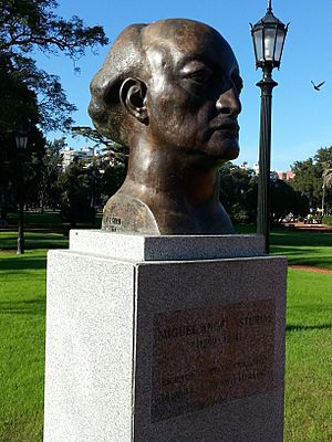
M104 209L104 230L232 233L218 168L239 152L242 81L212 28L169 19L133 24L91 84L96 128L129 146L126 179Z

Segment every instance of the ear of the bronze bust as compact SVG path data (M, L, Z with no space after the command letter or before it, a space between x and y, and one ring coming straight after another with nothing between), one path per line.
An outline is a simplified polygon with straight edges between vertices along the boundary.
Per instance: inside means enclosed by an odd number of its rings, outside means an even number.
M120 99L127 112L138 122L147 124L145 105L146 84L138 78L126 78L120 90Z

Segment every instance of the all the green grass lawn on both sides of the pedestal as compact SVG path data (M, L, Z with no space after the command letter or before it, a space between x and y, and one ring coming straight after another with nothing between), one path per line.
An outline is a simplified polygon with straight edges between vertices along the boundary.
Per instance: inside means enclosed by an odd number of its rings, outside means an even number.
M332 235L304 233L274 232L272 251L331 269ZM0 232L0 442L41 442L46 252L30 249L68 239L28 232L24 255L15 239ZM332 276L291 269L288 283L284 442L331 442Z

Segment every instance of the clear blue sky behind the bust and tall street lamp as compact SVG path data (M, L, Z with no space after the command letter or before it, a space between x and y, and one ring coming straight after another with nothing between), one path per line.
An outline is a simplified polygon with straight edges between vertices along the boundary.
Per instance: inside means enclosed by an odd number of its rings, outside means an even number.
M61 78L63 88L77 112L75 125L92 126L87 115L89 84L103 64L120 32L132 23L148 23L166 18L186 18L217 29L231 45L241 70L245 88L239 116L241 152L235 161L252 167L258 160L260 90L256 70L250 22L266 14L267 0L59 0L58 13L65 19L76 14L86 25L100 24L110 39L108 46L76 62L64 55L37 52L38 65ZM273 70L278 86L272 98L271 170L289 170L294 161L313 157L321 147L332 145L332 1L272 0L274 15L290 22L280 70ZM311 81L325 81L320 92ZM61 134L48 134L49 139ZM68 139L71 147L86 145L84 138Z

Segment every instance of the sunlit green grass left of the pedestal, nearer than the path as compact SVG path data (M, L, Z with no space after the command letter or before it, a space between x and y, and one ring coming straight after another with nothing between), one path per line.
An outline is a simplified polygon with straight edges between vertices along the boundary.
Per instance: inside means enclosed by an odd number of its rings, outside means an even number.
M42 441L45 251L0 254L0 441Z

